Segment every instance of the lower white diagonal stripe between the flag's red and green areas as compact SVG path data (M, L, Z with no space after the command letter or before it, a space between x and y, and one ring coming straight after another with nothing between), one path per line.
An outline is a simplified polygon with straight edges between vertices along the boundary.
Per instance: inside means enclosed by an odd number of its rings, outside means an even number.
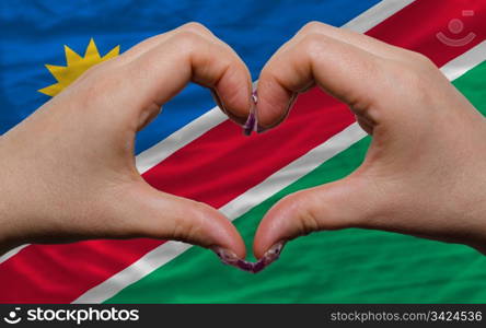
M441 71L449 80L461 77L478 63L486 60L486 51L484 51L485 47L486 42L483 42L467 52L448 62L441 68ZM314 148L305 155L274 173L263 183L240 195L219 210L230 220L241 216L250 209L261 203L264 199L267 199L271 195L294 183L328 159L361 140L364 136L366 132L359 128L358 124L355 122L350 125L342 132L335 134L323 144ZM116 295L126 286L150 274L155 269L167 263L190 247L190 245L181 242L166 242L146 254L131 266L89 290L79 298L74 300L73 303L101 303Z

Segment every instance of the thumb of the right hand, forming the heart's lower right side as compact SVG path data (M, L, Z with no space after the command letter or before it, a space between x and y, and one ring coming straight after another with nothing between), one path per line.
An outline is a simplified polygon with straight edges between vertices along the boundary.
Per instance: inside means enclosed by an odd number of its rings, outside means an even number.
M285 197L266 213L257 229L255 257L262 258L279 242L312 232L364 226L378 209L375 195L361 177L349 176Z

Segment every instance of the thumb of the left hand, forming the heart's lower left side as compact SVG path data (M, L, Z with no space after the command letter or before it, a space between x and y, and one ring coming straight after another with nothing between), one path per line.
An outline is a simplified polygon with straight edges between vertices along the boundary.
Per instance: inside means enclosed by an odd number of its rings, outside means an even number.
M113 208L117 211L115 221L125 225L125 236L181 241L206 248L218 246L245 257L245 245L235 226L205 203L141 183L129 188Z

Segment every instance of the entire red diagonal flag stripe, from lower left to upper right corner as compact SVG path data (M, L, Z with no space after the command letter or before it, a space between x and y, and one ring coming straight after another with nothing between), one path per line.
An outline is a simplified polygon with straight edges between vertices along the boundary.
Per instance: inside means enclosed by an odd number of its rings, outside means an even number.
M438 66L485 38L483 1L419 0L368 34L420 51ZM463 47L436 38L462 10L474 10L465 26L477 34ZM268 175L324 142L352 122L346 106L312 90L299 97L288 120L277 130L244 138L223 122L167 157L143 176L157 188L220 207ZM65 303L129 266L160 241L92 241L69 245L32 245L0 265L0 302Z

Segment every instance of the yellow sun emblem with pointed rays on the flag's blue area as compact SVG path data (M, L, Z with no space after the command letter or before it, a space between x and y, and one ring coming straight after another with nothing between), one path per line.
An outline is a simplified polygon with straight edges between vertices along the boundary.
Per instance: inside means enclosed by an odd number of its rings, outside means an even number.
M84 73L84 71L86 71L90 67L118 56L119 46L116 46L109 50L108 54L101 57L93 38L91 38L86 51L84 52L84 57L81 57L68 46L65 46L65 52L67 66L46 65L46 68L54 75L54 78L56 78L57 83L40 89L38 92L49 96L57 95L69 84L74 82L74 80Z

